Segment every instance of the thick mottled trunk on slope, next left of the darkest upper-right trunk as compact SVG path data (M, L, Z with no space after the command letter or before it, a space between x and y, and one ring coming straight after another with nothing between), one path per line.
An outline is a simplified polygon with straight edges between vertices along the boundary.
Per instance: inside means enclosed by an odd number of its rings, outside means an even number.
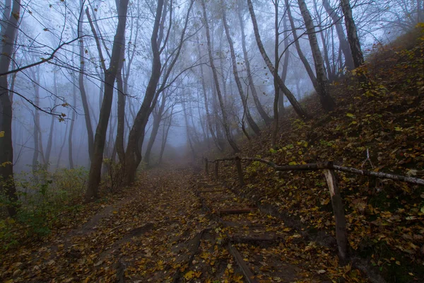
M319 51L319 45L317 40L317 34L315 33L314 23L310 11L307 9L305 0L298 0L300 13L302 13L303 20L305 21L307 36L309 37L309 42L312 50L312 55L314 57L315 72L317 73L317 82L318 82L318 96L321 101L322 108L324 110L331 111L334 110L333 98L329 94L329 81L325 74L324 68L324 59L322 59L321 51Z

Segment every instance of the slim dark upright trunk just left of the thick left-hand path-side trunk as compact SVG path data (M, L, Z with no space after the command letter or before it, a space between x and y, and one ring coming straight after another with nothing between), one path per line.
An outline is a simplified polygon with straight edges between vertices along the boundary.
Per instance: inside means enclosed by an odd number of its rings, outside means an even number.
M80 71L78 76L78 87L81 94L81 102L83 103L83 109L84 109L84 118L86 120L86 128L87 128L87 137L88 137L88 156L90 156L90 161L93 158L93 126L91 125L91 119L90 119L90 109L88 108L88 100L87 100L87 93L86 93L86 87L84 86L84 69L85 69L85 63L84 62L84 40L82 38L83 36L83 21L84 21L84 13L83 11L83 0L80 0L80 18L78 19L78 36L81 37L79 39L79 59L80 59Z

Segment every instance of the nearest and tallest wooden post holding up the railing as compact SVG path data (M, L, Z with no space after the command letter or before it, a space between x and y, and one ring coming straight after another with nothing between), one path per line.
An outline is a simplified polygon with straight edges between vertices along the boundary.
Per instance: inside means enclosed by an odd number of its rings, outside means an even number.
M344 214L343 202L338 190L336 173L333 169L325 169L324 175L326 183L329 185L331 204L333 206L334 219L336 219L336 240L338 257L342 264L348 258L348 233L346 231L346 218Z

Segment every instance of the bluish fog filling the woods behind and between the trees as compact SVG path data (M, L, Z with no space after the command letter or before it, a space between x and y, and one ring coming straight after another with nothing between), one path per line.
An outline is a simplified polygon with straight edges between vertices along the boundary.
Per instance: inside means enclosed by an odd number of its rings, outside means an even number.
M274 63L276 54L281 57L276 66L278 76L296 100L316 95L301 59L305 57L317 76L300 1L252 2L269 59ZM7 78L0 95L8 96L12 103L14 173L37 166L48 166L50 171L76 166L88 169L90 155L92 161L102 156L118 163L123 156L129 158L134 143L133 156L148 166L192 161L204 151L231 148L229 137L252 137L249 116L264 127L274 115L273 74L259 52L247 1L140 0L126 4L119 0L35 0L20 1L19 13L13 14L10 8L15 3L18 1L1 3L1 34L7 40L0 44L3 50L13 47L10 54L1 54L10 58L10 64L0 71L1 78ZM351 1L365 57L373 45L387 43L420 21L422 11L417 3L420 1ZM340 1L328 3L336 17L326 11L321 0L305 4L331 83L350 69L337 30L341 28L347 40ZM124 16L118 15L119 9L127 10ZM16 16L16 24L11 15ZM119 22L122 18L126 18L124 23ZM119 24L124 28L119 30ZM8 30L13 29L10 39ZM2 59L1 64L6 61ZM158 62L159 67L155 66ZM107 117L107 86L113 87L112 104L108 122L103 124L107 131L102 146L99 121ZM281 112L290 107L284 94ZM123 105L121 110L119 105ZM0 132L7 136L4 116L8 112L1 109ZM6 151L6 144L2 146L0 150Z

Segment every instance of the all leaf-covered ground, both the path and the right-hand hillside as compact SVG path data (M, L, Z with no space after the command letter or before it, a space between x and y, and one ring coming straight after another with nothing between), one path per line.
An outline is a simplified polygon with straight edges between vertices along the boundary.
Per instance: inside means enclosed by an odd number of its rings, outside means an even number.
M422 28L404 45L377 46L365 67L333 83L334 112L310 96L310 120L288 109L276 147L264 129L237 141L241 155L423 178ZM242 168L243 187L230 162L220 163L219 182L194 168L142 171L134 187L2 253L0 282L423 282L423 186L339 173L352 255L340 265L322 173Z

